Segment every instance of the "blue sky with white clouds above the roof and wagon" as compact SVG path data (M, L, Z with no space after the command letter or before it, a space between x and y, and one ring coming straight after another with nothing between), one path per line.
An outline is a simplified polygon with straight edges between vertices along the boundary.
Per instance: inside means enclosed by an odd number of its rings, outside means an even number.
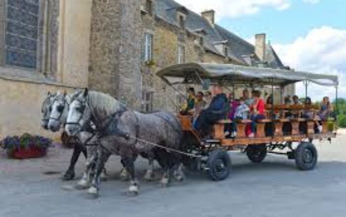
M339 75L346 98L346 0L176 0L200 13L216 11L217 24L254 41L265 33L284 65L298 71ZM335 98L335 88L309 85L313 100ZM305 96L297 84L296 93Z

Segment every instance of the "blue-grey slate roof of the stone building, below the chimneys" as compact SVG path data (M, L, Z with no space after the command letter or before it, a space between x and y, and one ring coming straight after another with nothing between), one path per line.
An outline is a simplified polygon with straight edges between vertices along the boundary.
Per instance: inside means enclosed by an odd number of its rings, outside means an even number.
M178 26L176 12L183 6L174 0L156 0L155 2L155 15L169 24ZM201 15L189 9L187 9L186 15L185 26L188 31L195 32L195 30L203 30L206 33L204 35L204 46L206 50L224 56L223 53L220 53L216 49L215 42L227 41L226 43L229 47L228 57L248 66L253 66L256 62L259 62L259 59L254 55L255 46L251 43L217 24L212 26ZM268 62L270 68L285 68L270 44L266 46L266 58L266 62Z

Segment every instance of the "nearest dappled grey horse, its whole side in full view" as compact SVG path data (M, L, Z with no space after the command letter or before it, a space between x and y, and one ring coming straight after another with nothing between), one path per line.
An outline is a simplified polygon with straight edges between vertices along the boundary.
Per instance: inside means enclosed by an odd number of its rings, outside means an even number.
M142 114L127 109L109 95L89 92L86 89L70 105L66 132L69 135L76 135L90 121L96 126L101 145L98 146L99 157L91 187L88 189L89 194L98 195L99 175L111 154L121 156L130 174L128 191L130 195L139 192L134 168L138 154L159 162L164 169L161 180L163 185L170 182L171 175L176 171L179 171L180 175L177 178L182 178L182 172L179 170L181 155L172 151L181 148L183 135L180 122L174 114L169 112ZM172 149L167 151L153 144Z

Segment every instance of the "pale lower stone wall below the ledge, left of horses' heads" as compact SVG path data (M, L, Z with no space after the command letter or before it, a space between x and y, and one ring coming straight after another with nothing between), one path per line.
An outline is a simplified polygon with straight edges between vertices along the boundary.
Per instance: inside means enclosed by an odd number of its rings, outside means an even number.
M42 102L48 91L58 90L72 92L74 88L1 76L0 140L8 135L23 133L39 134L50 138L58 137L59 134L53 134L41 128Z

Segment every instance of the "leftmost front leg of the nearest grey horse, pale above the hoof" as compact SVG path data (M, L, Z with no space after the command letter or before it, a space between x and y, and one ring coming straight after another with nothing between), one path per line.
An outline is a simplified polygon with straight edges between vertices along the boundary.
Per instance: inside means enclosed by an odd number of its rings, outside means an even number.
M87 191L88 194L93 195L95 197L98 196L99 185L100 185L100 174L102 172L102 169L104 168L105 163L107 162L110 156L111 156L111 153L109 153L108 151L106 152L105 150L100 150L100 153L98 155L96 165L95 165L95 174L91 182L91 186Z

